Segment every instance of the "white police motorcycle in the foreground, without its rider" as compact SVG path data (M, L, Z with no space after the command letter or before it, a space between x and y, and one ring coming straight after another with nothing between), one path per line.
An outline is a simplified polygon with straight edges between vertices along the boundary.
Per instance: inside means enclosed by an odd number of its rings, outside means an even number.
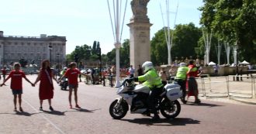
M129 111L129 107L131 114L145 115L145 112L150 112L147 105L150 88L143 84L135 85L134 81L126 79L118 88L117 94L121 98L116 98L109 107L109 113L113 119L122 119ZM178 84L166 84L157 98L157 112L160 111L166 119L175 119L181 112L178 101L181 97L182 91Z

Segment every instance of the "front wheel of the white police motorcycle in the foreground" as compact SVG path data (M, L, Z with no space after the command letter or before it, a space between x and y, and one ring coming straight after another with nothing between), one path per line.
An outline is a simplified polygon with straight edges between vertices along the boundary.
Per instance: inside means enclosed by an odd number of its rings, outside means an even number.
M112 101L109 106L109 114L113 119L123 119L129 110L129 106L126 101L121 101L119 104L118 100Z

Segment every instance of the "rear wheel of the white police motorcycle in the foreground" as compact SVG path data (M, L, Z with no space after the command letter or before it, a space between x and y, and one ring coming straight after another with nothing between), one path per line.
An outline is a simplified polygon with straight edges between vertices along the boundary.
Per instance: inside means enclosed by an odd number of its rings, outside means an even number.
M161 102L160 111L166 119L175 119L175 117L177 117L181 112L181 105L177 100L170 101L168 99L164 99L164 101Z

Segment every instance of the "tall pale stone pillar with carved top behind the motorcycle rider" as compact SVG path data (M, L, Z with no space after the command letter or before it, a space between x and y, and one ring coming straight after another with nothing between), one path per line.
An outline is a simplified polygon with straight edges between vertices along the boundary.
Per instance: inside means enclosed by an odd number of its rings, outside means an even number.
M127 26L130 27L130 65L136 70L138 65L150 61L150 21L147 17L149 0L133 0L131 2L133 17Z

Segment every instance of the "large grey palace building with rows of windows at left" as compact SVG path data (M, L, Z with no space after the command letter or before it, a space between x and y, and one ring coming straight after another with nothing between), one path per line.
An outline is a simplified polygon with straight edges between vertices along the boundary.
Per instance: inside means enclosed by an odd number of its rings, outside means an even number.
M64 64L66 59L65 36L5 36L0 31L0 67L24 59L28 64L40 64L50 60L51 64Z

